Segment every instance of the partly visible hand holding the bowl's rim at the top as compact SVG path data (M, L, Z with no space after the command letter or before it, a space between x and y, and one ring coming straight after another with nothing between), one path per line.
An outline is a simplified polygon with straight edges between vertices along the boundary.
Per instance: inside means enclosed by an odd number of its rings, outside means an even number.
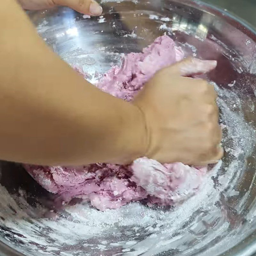
M91 16L102 13L101 6L94 0L18 0L18 2L26 10L42 10L61 5Z

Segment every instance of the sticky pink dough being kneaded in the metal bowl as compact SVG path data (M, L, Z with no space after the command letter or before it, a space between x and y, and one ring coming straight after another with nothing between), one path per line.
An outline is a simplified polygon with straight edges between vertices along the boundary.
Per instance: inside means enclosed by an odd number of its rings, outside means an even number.
M183 58L168 36L161 36L140 53L129 53L121 67L111 68L96 86L130 101L157 70ZM199 188L206 168L182 163L160 164L146 157L131 165L90 164L80 167L25 165L30 175L63 201L81 197L99 210L116 209L133 201L174 205Z

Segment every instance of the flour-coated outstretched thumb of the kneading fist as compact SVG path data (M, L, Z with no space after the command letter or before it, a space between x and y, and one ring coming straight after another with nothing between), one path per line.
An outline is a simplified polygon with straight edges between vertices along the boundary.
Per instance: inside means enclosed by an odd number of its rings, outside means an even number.
M189 76L193 74L203 74L216 68L216 60L199 60L196 58L186 58L171 66L174 73L181 76Z

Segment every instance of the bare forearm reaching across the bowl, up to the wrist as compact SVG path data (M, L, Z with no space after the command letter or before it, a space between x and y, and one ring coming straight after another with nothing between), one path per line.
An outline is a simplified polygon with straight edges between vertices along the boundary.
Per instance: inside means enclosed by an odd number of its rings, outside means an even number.
M86 82L48 49L14 1L2 5L0 158L48 165L140 156L139 109Z

